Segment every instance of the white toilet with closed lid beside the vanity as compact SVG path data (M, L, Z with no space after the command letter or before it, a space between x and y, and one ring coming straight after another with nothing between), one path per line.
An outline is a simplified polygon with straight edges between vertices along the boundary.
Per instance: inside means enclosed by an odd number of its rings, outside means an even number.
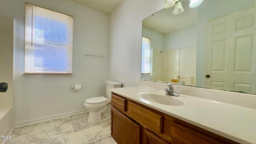
M108 120L111 117L111 88L121 88L122 83L113 80L107 80L106 84L106 94L107 98L104 96L98 96L94 98L88 98L84 102L84 106L89 110L89 116L87 122L90 124L97 124Z

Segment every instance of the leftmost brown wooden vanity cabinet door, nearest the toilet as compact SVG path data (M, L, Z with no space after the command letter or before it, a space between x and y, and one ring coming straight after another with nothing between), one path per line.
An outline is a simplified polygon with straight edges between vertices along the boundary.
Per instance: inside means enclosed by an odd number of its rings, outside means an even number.
M111 136L118 144L140 144L140 125L112 107Z

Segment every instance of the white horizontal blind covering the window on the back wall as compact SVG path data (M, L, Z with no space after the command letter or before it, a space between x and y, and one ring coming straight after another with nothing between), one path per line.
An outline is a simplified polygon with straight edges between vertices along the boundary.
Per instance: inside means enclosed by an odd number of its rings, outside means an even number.
M73 18L26 4L25 74L72 74Z

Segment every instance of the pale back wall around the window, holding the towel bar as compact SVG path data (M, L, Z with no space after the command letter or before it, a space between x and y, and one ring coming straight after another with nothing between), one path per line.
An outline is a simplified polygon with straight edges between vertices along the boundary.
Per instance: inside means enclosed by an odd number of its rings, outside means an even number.
M24 76L25 0L0 0L0 14L15 18L14 30L14 124L22 125L85 110L84 100L106 96L109 79L110 14L71 0L26 0L56 12L74 16L73 74ZM104 54L100 57L84 57ZM139 74L139 73L138 73ZM82 84L74 92L71 84Z

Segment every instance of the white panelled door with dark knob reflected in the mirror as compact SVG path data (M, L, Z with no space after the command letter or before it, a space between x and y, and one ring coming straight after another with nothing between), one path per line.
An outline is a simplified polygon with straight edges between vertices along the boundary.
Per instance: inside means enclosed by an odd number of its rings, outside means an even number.
M256 8L207 22L205 86L255 93Z

